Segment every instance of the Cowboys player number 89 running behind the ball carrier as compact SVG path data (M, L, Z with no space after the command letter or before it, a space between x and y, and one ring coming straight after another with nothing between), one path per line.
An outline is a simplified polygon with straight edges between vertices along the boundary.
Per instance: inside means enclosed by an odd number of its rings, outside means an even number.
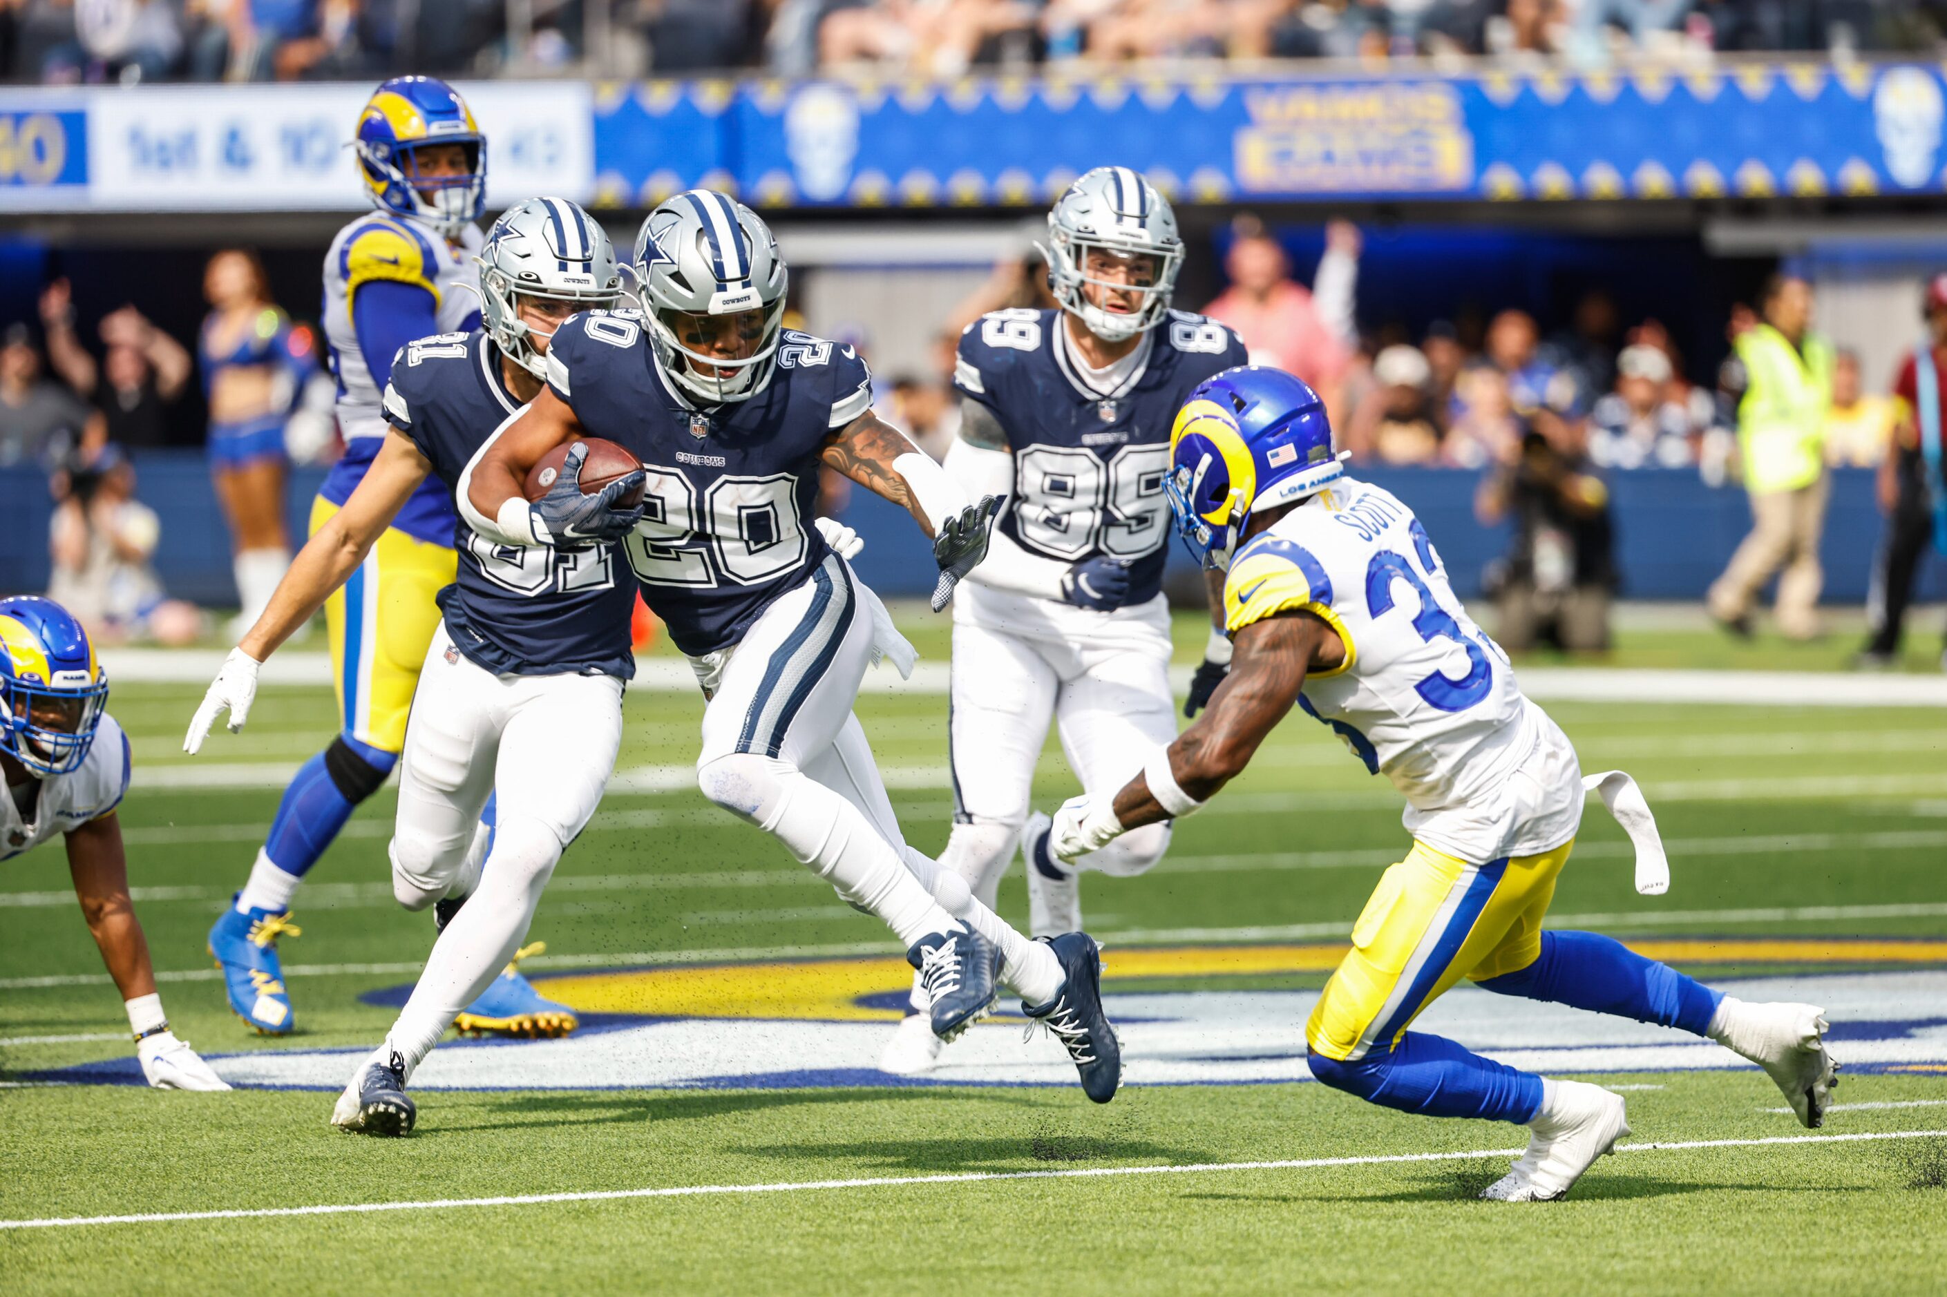
M960 440L946 469L1005 495L987 561L954 600L950 765L954 828L942 865L993 906L1014 843L1028 861L1036 937L1083 925L1081 869L1139 874L1170 828L1131 834L1071 869L1030 818L1047 723L1084 789L1118 787L1133 754L1176 734L1162 497L1170 421L1190 389L1244 362L1225 325L1170 310L1184 259L1176 214L1131 167L1096 167L1047 214L1059 310L983 315L960 337ZM1211 586L1221 619L1221 586ZM1211 631L1186 705L1223 680L1231 641ZM1026 826L1026 834L1022 828ZM882 1067L933 1065L938 1040L907 1017Z

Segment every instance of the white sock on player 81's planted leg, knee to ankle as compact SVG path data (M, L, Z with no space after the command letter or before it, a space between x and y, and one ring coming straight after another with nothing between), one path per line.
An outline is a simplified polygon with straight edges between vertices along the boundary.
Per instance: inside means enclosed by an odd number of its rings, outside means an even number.
M397 1054L407 1079L413 1077L454 1019L514 958L559 859L561 839L551 828L535 820L500 820L479 890L432 943L426 970L374 1057Z

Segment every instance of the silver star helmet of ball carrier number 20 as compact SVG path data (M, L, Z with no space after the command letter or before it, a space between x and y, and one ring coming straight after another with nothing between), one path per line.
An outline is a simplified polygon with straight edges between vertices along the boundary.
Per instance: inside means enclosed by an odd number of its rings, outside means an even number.
M771 382L789 275L757 212L711 189L662 203L635 236L637 290L664 374L705 401L748 401ZM752 354L726 360L683 343L699 315L750 315Z

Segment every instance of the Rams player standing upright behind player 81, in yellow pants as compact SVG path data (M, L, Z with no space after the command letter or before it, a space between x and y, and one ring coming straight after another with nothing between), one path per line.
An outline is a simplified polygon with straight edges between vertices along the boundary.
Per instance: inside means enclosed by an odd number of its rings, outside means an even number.
M387 440L380 393L399 349L479 323L473 222L487 195L487 138L465 101L438 78L391 78L358 115L352 148L376 210L339 230L325 253L323 329L345 456L312 504L313 536ZM267 1036L296 1020L276 941L300 931L290 921L298 882L386 783L405 744L419 666L440 623L432 598L454 580L454 524L450 489L422 481L325 604L343 732L290 781L249 880L208 939L230 1009ZM239 647L220 680L255 687L255 674L257 660Z

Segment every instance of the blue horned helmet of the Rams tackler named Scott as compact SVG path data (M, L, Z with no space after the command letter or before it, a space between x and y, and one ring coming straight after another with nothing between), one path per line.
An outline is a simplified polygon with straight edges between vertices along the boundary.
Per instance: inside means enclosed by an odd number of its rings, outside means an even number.
M1254 510L1316 495L1345 471L1343 460L1306 382L1242 364L1201 382L1176 413L1162 491L1190 553L1229 569Z

